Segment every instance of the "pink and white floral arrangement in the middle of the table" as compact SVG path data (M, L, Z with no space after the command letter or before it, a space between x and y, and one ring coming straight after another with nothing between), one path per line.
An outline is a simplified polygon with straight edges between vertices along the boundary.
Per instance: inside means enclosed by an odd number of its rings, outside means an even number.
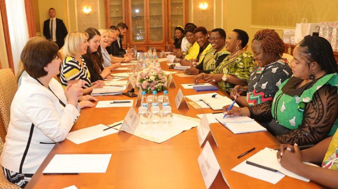
M147 93L166 91L168 79L160 67L144 68L137 75L136 86Z

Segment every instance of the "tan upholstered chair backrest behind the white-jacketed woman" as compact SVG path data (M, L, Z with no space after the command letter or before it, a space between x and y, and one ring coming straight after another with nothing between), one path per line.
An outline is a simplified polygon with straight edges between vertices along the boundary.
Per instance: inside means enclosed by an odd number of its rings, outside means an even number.
M10 104L17 91L15 76L11 69L0 69L0 127L1 138L4 138L7 133L10 117Z

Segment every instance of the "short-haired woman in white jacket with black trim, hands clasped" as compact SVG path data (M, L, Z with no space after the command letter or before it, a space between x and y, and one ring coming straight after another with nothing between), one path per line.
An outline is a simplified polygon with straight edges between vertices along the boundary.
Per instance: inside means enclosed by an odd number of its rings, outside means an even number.
M83 82L65 91L54 77L61 60L59 47L44 38L30 39L21 52L28 75L14 95L10 121L1 154L7 180L24 188L52 150L65 140L80 115L78 104Z

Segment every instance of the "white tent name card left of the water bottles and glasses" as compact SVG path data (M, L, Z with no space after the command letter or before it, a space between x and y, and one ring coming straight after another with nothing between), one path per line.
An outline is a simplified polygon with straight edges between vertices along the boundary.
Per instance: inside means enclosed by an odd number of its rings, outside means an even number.
M140 117L134 110L134 107L130 107L126 117L123 120L120 131L125 131L127 133L134 134L139 123Z

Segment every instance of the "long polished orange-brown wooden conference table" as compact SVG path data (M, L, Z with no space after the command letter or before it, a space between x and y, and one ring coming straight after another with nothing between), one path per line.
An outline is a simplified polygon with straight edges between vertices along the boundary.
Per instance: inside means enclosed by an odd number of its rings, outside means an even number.
M161 67L167 71L167 62ZM125 71L113 71L119 73ZM178 73L181 73L178 71ZM195 117L196 114L214 112L210 108L176 109L174 97L179 89L183 95L194 95L208 92L195 92L183 89L181 84L193 83L193 77L179 77L173 74L176 88L169 88L169 100L172 112ZM210 93L210 92L209 92ZM217 93L227 95L222 91ZM163 92L158 95L163 95ZM131 99L125 95L98 96L99 100ZM134 103L136 97L133 97ZM187 99L186 99L187 100ZM112 124L123 120L130 107L84 108L74 124L72 131L97 124ZM136 109L137 111L137 109ZM218 143L211 144L213 152L227 179L230 188L268 189L268 188L322 188L314 182L303 182L284 177L276 185L254 179L231 171L232 168L265 147L277 148L279 142L269 132L233 134L220 123L210 124L210 129ZM255 147L253 152L238 159L243 152ZM79 189L203 189L205 188L197 157L202 151L199 146L196 127L184 131L169 140L158 144L121 131L97 138L82 144L75 144L68 139L55 145L46 157L27 189L62 189L75 185ZM81 173L79 175L43 175L42 171L55 154L112 154L106 173ZM218 176L212 189L229 188Z

